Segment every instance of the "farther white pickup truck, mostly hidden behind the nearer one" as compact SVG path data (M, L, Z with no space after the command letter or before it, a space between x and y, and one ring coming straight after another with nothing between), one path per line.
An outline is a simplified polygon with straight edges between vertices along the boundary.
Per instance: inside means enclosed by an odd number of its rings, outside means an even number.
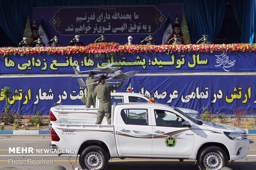
M128 103L128 102L155 102L149 100L149 97L140 93L111 93L112 103ZM54 123L60 118L83 118L84 114L88 114L87 117L94 118L96 121L97 108L99 106L99 100L96 99L96 108L85 108L85 105L57 105L50 110L50 123ZM194 119L200 119L200 113L192 110L177 107L184 113L188 114ZM106 118L105 118L106 119Z

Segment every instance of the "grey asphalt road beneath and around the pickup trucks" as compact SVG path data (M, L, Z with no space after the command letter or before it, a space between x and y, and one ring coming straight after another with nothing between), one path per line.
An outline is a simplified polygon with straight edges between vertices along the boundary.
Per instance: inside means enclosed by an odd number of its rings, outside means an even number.
M57 165L67 170L80 168L76 156L57 156L56 153L36 153L36 149L49 149L50 135L0 135L0 170L52 170ZM249 154L237 161L228 162L232 170L256 169L256 135L248 135ZM9 147L33 147L32 153L9 153ZM28 150L27 150L28 152ZM107 170L199 170L195 161L114 158L109 161Z

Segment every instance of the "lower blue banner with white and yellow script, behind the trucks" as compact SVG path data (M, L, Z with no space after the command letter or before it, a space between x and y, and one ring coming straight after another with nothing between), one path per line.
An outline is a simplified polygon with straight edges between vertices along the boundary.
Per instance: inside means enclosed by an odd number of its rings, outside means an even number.
M1 78L0 112L4 112L2 89L10 87L11 109L22 115L35 115L36 110L48 115L54 105L83 105L86 88L79 88L77 79L86 77L13 77ZM129 78L117 92L152 95L157 102L203 112L208 107L213 114L232 114L232 109L256 109L256 75L149 75ZM117 82L109 82L116 84Z

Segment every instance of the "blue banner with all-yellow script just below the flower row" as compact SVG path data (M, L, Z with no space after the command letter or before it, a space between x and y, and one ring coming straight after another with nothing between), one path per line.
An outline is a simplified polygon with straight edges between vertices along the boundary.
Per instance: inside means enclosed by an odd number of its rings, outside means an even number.
M80 71L103 68L115 63L122 71L137 70L140 73L166 72L254 72L256 52L239 51L213 53L185 52L124 53L97 59L93 55L28 55L0 57L1 74L73 74L72 68Z

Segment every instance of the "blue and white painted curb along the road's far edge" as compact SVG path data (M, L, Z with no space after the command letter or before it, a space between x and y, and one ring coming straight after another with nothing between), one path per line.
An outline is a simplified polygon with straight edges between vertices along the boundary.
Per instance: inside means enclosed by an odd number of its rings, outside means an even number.
M256 129L244 129L247 134L256 134ZM50 135L50 130L0 130L0 135Z

